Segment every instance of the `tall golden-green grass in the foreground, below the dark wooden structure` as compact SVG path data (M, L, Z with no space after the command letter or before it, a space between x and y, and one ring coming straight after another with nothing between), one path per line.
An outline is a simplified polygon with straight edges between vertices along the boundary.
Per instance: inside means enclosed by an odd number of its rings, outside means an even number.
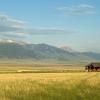
M99 100L100 73L0 74L0 100Z

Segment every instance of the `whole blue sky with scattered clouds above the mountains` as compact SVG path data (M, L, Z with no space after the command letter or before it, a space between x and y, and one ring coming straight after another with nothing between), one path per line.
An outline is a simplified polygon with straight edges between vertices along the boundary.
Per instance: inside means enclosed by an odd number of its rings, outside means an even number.
M0 0L0 41L100 53L100 0Z

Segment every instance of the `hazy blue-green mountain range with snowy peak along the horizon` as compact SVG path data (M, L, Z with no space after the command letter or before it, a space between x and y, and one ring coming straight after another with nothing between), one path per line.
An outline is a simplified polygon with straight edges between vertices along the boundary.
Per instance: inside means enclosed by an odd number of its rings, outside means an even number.
M100 60L100 54L69 52L47 44L25 44L14 41L0 42L0 58L86 62Z

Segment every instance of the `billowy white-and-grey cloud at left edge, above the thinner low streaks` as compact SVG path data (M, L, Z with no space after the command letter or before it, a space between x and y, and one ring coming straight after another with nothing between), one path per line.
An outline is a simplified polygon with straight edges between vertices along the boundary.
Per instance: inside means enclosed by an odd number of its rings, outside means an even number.
M24 22L0 14L0 32L18 31L24 27Z

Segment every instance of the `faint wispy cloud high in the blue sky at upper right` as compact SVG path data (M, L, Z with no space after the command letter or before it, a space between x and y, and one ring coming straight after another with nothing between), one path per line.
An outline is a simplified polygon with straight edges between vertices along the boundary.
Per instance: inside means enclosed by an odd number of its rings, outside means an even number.
M64 6L57 8L59 11L63 11L68 15L89 15L95 14L95 7L88 4L80 4L76 6Z

